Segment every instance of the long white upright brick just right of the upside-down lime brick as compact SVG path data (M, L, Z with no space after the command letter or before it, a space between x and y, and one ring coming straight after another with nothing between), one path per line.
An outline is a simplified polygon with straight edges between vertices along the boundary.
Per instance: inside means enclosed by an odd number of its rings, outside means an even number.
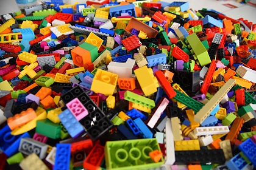
M168 118L165 123L165 165L173 165L175 162L174 140L171 128L171 120Z

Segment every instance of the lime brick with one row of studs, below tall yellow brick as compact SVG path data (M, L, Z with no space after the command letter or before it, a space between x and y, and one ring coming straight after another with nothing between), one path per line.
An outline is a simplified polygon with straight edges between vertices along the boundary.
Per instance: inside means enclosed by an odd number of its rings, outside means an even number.
M133 103L138 103L142 106L146 106L146 107L149 107L151 109L153 109L155 107L154 100L143 97L141 95L137 95L137 94L135 94L133 92L130 92L128 90L124 93L124 100L128 100L128 101L131 101Z

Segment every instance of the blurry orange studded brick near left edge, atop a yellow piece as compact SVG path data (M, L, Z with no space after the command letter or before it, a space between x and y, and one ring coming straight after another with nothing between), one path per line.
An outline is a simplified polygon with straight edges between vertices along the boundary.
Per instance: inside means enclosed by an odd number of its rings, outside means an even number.
M7 124L11 130L15 129L16 127L22 126L27 122L34 120L37 118L37 114L35 114L35 110L32 108L27 109L26 111L22 111L20 114L16 114L13 117L9 117L7 119Z

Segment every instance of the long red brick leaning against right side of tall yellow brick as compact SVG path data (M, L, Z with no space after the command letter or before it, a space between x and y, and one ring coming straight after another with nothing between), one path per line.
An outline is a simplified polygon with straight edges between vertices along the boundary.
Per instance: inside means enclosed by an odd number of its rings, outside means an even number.
M157 77L158 82L161 84L163 90L165 90L166 95L169 98L173 98L176 96L176 92L174 91L168 80L166 80L165 75L163 75L163 72L161 72L161 70L155 72L155 77Z

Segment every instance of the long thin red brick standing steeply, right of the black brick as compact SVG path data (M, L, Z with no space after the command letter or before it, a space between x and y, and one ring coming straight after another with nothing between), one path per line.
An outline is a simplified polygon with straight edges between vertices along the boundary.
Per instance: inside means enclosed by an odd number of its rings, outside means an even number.
M207 94L208 88L212 81L213 73L215 72L215 68L216 68L215 60L212 60L212 63L210 64L210 67L205 75L204 83L202 84L202 87L200 89L202 94L205 94L205 95Z

